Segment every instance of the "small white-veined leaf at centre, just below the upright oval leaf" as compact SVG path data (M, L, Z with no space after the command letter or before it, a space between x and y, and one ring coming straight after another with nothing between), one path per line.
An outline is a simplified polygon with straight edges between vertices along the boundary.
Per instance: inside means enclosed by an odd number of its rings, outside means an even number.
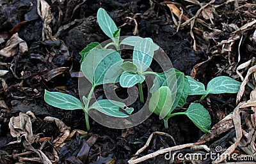
M145 77L143 75L124 71L120 77L120 85L122 87L132 87L137 83L142 83L144 80Z

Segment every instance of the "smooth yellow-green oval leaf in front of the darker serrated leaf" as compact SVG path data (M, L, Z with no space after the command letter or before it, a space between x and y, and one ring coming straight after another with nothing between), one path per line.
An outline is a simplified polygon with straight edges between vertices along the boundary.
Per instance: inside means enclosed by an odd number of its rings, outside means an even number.
M170 114L172 108L172 93L169 87L162 86L154 92L149 100L148 108L163 119Z

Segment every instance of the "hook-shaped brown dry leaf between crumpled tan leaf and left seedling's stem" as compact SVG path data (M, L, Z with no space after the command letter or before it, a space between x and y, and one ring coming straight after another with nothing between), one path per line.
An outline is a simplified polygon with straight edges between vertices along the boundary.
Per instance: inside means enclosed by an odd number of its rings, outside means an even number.
M63 123L63 121L61 121L60 119L56 119L54 117L45 117L44 121L55 122L56 125L58 126L58 128L60 130L60 135L52 142L54 147L58 147L70 135L70 127L65 125L65 123Z

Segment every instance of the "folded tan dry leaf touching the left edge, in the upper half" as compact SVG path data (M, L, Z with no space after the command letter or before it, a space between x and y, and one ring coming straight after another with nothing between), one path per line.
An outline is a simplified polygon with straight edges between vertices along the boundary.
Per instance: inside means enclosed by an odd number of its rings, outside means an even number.
M24 53L28 50L28 45L26 41L19 38L18 33L13 34L10 40L7 41L3 49L0 50L0 56L11 57L17 52L17 47L19 47L19 54Z

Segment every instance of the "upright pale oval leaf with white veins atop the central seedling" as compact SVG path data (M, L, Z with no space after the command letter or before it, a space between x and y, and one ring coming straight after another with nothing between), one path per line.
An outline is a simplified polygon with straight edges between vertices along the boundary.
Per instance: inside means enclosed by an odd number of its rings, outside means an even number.
M142 41L137 41L134 46L132 62L138 68L139 73L146 71L152 63L154 56L153 44L153 41L143 39Z

